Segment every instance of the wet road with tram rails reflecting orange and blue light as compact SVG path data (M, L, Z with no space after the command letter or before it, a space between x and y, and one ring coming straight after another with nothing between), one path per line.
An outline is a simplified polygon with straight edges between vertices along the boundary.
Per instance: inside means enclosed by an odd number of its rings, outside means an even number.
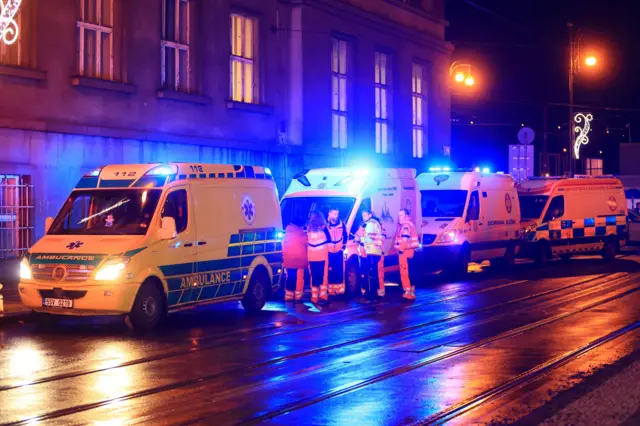
M640 257L432 278L412 304L199 308L139 336L113 319L0 329L1 424L505 421L640 348ZM638 327L638 328L637 328Z

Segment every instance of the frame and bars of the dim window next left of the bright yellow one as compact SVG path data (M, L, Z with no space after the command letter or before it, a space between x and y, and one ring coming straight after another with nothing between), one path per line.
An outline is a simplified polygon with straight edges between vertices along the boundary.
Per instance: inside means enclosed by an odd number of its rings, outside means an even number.
M174 32L176 40L169 40L169 22L167 22L167 2L173 2L175 4L174 10ZM184 29L186 43L182 43L180 39L180 23L182 19L182 15L180 13L181 7L180 3L186 4L186 25ZM191 1L189 0L162 0L162 29L160 35L160 77L162 87L174 90L176 92L186 92L189 93L192 90L192 65L191 65ZM168 71L168 52L169 49L174 51L174 64L173 64L173 85L169 84L169 79L167 78ZM180 75L180 54L185 52L186 55L186 64L185 64L185 72L186 76L181 78ZM182 84L182 82L184 83Z

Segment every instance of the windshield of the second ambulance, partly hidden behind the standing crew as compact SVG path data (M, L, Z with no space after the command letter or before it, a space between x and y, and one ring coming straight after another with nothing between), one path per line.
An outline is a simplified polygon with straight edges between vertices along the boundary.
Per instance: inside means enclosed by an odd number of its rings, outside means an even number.
M330 209L338 209L340 219L346 222L351 214L356 199L352 197L289 197L282 200L282 225L286 227L298 217L305 222L312 211L321 212L327 217Z

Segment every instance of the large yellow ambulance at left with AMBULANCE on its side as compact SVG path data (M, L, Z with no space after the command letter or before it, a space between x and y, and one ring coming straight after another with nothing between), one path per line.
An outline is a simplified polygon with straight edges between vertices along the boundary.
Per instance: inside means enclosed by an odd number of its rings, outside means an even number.
M262 309L282 272L282 220L267 168L122 164L78 182L20 264L22 303L44 318L166 313L239 300Z

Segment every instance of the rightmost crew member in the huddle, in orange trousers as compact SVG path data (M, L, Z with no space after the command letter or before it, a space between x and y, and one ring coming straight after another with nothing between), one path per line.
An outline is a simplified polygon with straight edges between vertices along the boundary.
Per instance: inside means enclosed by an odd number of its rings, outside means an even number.
M407 300L415 300L416 288L411 284L411 276L414 275L413 255L419 247L418 232L416 226L411 222L409 211L402 209L398 213L398 232L394 246L398 250L398 260L400 266L400 282L404 290L404 297Z

